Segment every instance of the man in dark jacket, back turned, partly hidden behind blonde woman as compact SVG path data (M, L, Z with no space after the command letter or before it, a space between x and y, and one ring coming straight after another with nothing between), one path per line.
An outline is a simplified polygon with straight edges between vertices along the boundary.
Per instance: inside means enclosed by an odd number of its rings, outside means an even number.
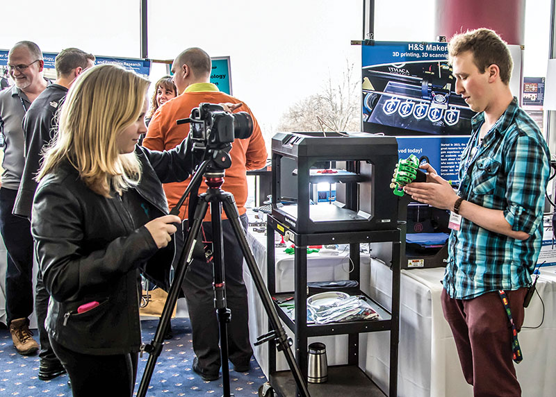
M56 81L35 99L23 119L25 166L13 214L31 220L33 196L37 188L34 178L40 168L42 148L51 141L58 130L56 113L65 100L67 90L77 76L94 64L95 56L76 48L64 49L56 56ZM44 289L42 275L39 273L35 289L35 312L40 339L39 379L41 380L50 380L65 373L64 367L50 346L47 332L44 330L48 302L49 294Z

